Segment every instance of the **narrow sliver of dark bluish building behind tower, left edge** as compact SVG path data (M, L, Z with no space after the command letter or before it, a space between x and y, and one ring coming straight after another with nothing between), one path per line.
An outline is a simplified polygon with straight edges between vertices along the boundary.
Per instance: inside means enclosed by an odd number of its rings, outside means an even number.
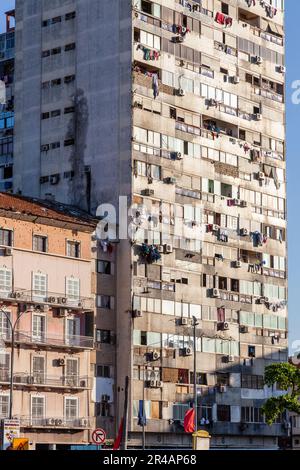
M9 11L0 34L0 191L13 187L14 51L14 11Z

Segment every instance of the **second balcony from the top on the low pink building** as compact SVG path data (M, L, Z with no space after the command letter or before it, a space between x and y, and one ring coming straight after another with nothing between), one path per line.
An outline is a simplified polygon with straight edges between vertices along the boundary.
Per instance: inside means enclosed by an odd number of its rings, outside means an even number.
M11 342L11 332L9 329L2 329L0 340ZM29 331L16 331L15 342L18 344L39 345L44 347L68 349L93 349L94 338L92 336L64 335L54 333L44 333L34 335Z

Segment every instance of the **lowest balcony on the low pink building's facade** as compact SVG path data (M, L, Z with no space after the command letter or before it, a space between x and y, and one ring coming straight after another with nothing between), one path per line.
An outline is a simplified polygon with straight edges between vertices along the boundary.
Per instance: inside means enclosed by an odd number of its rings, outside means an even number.
M21 428L46 428L46 429L91 429L91 418L66 419L61 417L34 418L32 416L21 416Z

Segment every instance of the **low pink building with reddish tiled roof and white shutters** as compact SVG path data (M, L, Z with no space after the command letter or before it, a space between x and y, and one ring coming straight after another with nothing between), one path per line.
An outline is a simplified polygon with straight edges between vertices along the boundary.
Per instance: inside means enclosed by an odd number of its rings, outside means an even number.
M88 444L94 428L95 224L56 207L0 195L0 418L9 417L14 338L12 417L34 449Z

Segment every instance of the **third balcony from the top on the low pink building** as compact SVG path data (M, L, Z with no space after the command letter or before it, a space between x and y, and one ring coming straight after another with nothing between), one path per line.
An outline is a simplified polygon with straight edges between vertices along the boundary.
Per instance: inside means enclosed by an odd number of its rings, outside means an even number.
M0 370L0 384L9 384L9 370ZM43 374L29 375L23 372L16 372L13 378L14 385L22 385L33 388L58 388L88 390L92 386L89 377L79 376L46 376Z

